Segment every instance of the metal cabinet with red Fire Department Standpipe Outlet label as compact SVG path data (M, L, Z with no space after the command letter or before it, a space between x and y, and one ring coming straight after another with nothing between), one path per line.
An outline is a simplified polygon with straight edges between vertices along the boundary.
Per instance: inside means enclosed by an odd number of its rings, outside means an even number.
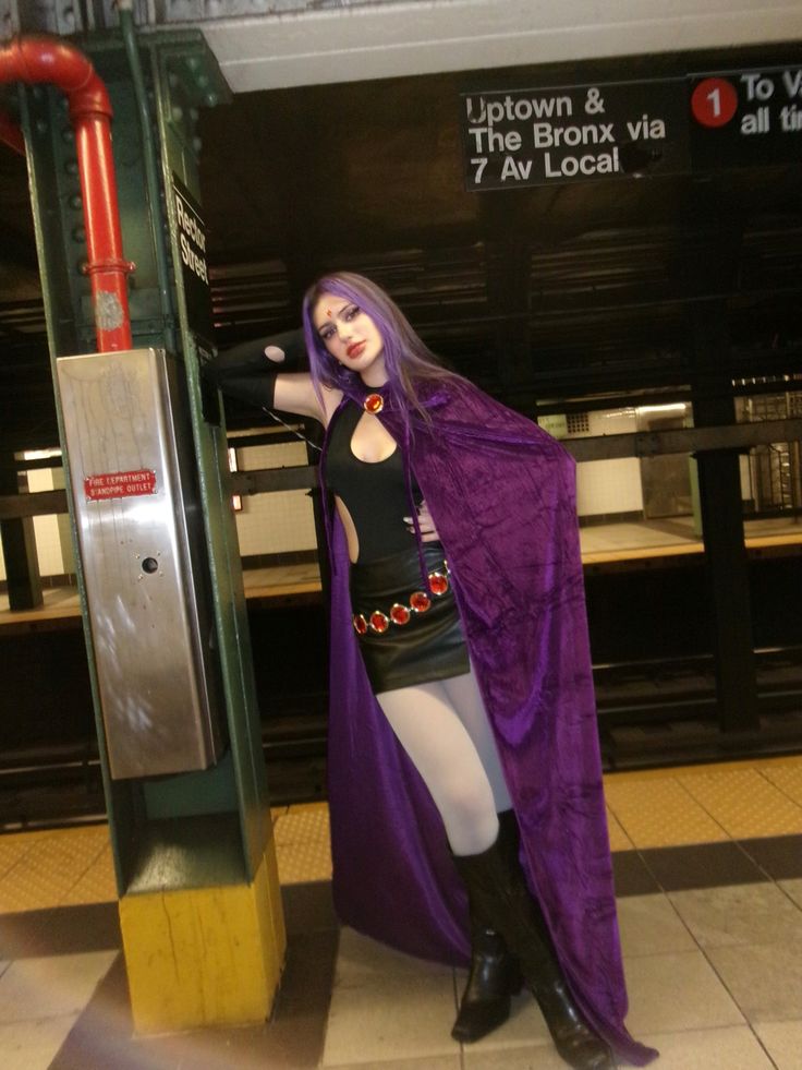
M206 769L224 710L179 369L162 349L57 369L111 776Z

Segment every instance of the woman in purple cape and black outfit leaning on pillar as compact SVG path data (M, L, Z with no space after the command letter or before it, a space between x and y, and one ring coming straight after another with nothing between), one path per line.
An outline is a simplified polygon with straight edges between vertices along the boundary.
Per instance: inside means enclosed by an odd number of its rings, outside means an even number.
M367 279L324 277L303 322L311 374L270 374L288 336L209 374L327 428L338 913L424 958L470 945L459 1041L501 1024L523 982L570 1066L644 1065L656 1053L623 1026L573 462L441 368Z

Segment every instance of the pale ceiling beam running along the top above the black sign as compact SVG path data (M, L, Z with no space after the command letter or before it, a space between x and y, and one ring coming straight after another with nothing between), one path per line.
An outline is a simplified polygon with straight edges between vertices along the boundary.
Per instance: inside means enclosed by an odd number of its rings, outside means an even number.
M246 14L258 11L254 0L177 2L157 22L179 25L175 15L185 12L235 93L802 39L798 0L344 0L336 8L274 0L266 7L271 14ZM227 12L234 16L220 17Z

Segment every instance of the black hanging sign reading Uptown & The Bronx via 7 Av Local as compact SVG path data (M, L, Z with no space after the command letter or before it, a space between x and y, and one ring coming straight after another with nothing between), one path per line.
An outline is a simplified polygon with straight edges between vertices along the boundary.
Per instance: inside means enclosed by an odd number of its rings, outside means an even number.
M802 68L463 93L470 191L802 159Z

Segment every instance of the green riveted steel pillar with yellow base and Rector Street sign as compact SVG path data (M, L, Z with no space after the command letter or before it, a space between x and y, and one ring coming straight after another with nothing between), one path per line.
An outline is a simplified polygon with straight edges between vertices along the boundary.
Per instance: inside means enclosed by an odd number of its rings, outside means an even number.
M73 44L106 82L114 109L123 248L136 265L130 280L134 347L165 350L180 370L177 389L207 543L210 646L224 696L220 734L228 741L209 768L118 777L97 669L98 646L108 646L109 637L98 635L92 591L87 598L88 563L76 554L134 1021L141 1032L157 1032L264 1020L279 984L285 937L226 490L224 428L218 398L202 397L198 375L211 350L211 315L196 122L198 109L224 104L229 91L199 33L147 34L135 41L125 17L124 33ZM58 91L21 86L20 109L64 444L57 360L96 348L82 272L86 245L75 146ZM69 479L69 449L65 471ZM71 508L77 546L72 503Z

